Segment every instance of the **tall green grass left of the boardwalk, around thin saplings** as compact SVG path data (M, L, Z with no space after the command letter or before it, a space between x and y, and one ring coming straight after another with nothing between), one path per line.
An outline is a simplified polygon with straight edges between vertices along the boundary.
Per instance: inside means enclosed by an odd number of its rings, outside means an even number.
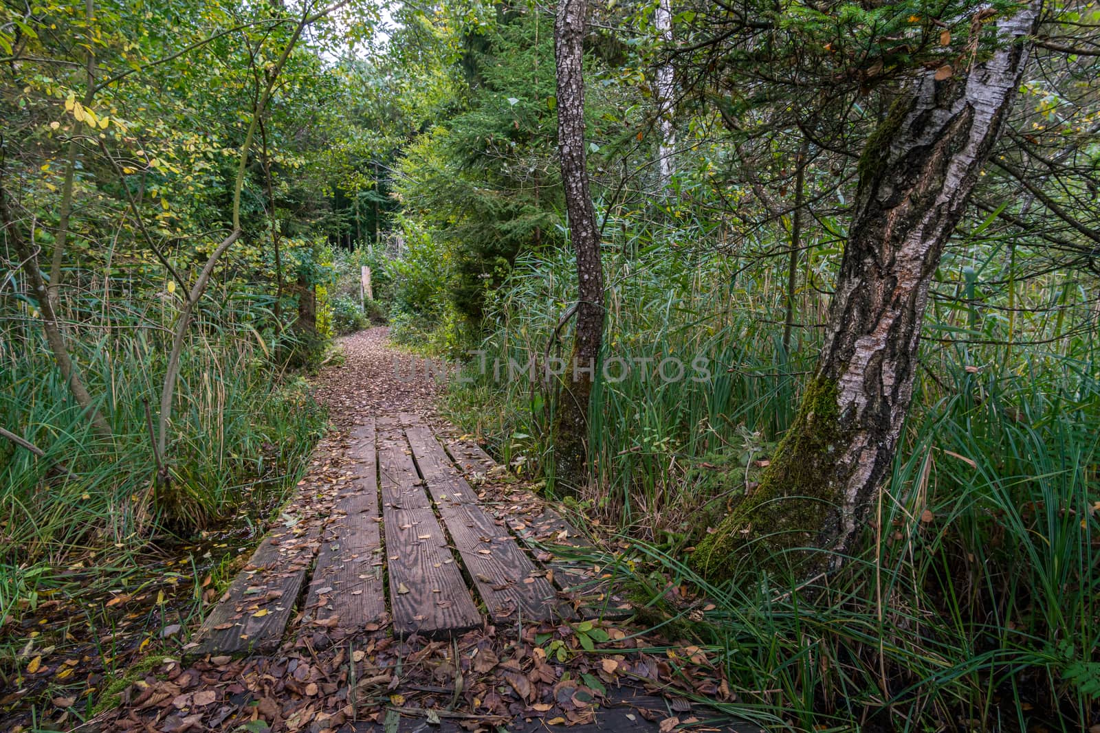
M69 348L112 425L110 441L89 429L29 309L0 321L2 423L45 452L0 444L0 618L92 553L125 557L238 509L262 512L293 486L324 415L302 380L279 378L273 338L257 329L262 308L232 288L211 295L183 357L167 487L156 485L150 418L170 307L116 301L92 311L84 300L67 313Z

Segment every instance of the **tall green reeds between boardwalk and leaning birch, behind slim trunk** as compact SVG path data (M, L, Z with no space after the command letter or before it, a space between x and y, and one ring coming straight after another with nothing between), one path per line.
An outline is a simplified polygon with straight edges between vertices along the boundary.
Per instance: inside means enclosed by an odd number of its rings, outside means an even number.
M552 334L575 289L570 258L553 251L518 263L479 346L485 368L471 359L469 381L448 393L453 420L487 437L506 460L521 460L551 480L557 382L546 384L541 374L534 382L509 378L508 364L542 365L552 341L551 355L568 356L569 333L556 341ZM721 491L701 497L698 486L714 488L728 484L726 474L744 474L746 456L761 457L763 445L793 421L800 377L813 367L816 333L809 330L787 354L782 298L739 278L736 262L651 247L609 253L606 264L605 358L632 367L622 380L617 368L610 381L597 380L598 407L590 415L595 490L587 498L642 536L684 532L701 498L723 499L714 512L728 498ZM684 365L682 379L674 379L671 363L670 379L658 374L666 357ZM693 368L698 357L710 378Z

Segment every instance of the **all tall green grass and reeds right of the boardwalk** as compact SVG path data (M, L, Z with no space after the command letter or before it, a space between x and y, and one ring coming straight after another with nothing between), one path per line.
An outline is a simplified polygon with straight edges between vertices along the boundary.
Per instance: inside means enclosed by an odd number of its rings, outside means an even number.
M592 479L566 501L618 527L630 549L592 559L637 589L653 623L680 626L717 652L730 685L744 690L740 703L803 730L1094 724L1094 310L1015 315L1010 326L996 302L960 308L952 300L966 288L963 267L997 266L996 242L960 256L955 275L945 267L903 447L859 552L840 571L810 582L792 573L718 585L686 558L756 488L790 426L820 348L812 326L827 301L799 295L795 321L804 327L787 353L783 295L767 273L713 249L646 244L606 253L603 358L635 368L597 382ZM983 252L988 259L976 262ZM463 378L446 397L451 420L551 487L556 392L541 368L565 340L553 332L572 288L568 257L548 253L517 264L491 299L487 335L471 345ZM826 266L825 257L806 264ZM1045 291L1033 282L1016 302ZM657 374L661 358L690 365L698 355L710 379ZM532 358L534 380L525 371ZM644 375L638 367L647 358ZM734 568L733 576L750 578L752 570ZM669 580L705 598L705 610L666 602Z

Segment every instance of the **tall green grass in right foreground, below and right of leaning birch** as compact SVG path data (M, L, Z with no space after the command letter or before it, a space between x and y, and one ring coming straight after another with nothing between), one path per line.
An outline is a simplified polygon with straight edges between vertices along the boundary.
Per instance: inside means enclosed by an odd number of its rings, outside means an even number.
M1098 382L1078 365L956 366L958 391L909 423L877 508L881 533L871 527L844 571L714 585L651 543L592 558L722 665L739 700L721 707L805 731L1096 723L1100 438L1087 426L1100 417ZM1047 379L1067 390L1047 393ZM700 601L668 607L667 577Z

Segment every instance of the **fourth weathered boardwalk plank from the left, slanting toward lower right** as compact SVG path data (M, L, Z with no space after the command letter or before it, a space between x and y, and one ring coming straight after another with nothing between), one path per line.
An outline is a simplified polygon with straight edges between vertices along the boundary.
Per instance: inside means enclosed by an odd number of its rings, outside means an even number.
M547 571L531 562L502 526L503 522L498 523L477 504L473 489L459 475L431 430L420 425L405 432L439 515L490 615L496 619L518 615L535 621L574 618L559 602Z

